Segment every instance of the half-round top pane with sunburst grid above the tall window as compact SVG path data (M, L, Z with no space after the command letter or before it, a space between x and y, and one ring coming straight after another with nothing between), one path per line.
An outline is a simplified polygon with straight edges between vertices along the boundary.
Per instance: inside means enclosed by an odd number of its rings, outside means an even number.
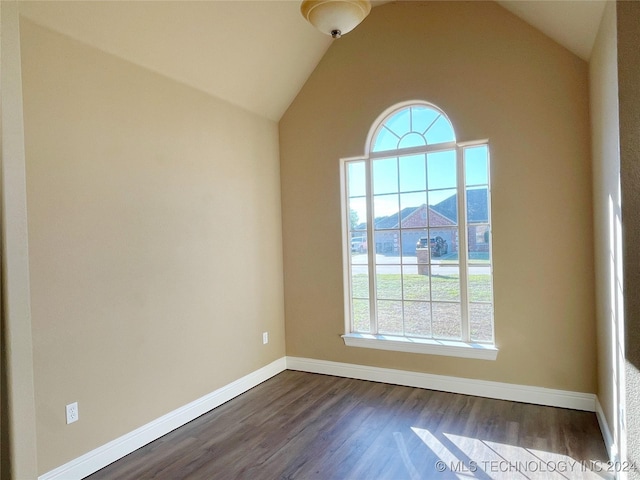
M377 127L372 152L455 142L447 117L435 107L411 105L389 114Z

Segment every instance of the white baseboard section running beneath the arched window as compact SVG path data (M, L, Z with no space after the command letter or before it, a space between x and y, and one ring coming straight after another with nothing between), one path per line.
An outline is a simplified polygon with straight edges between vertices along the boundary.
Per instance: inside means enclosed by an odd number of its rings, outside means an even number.
M300 357L287 357L287 369L588 412L594 412L596 409L596 396L592 393L448 377Z

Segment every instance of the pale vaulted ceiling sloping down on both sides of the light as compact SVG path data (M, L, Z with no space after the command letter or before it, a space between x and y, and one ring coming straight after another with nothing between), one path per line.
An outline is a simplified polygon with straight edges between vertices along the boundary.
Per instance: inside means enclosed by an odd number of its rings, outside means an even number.
M499 3L588 60L606 2ZM275 121L332 42L299 8L297 0L20 3L40 25Z

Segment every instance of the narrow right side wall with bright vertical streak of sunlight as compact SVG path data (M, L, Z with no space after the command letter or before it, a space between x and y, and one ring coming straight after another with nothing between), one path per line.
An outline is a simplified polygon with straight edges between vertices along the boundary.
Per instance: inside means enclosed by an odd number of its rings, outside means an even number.
M609 2L589 62L593 157L593 214L598 323L598 400L616 445L624 376L618 61L616 6Z

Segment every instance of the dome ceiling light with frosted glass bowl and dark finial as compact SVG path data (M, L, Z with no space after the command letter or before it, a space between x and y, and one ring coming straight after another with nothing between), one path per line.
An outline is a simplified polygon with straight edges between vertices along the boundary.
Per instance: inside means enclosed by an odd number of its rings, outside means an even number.
M300 5L302 16L333 38L356 28L370 11L369 0L303 0Z

